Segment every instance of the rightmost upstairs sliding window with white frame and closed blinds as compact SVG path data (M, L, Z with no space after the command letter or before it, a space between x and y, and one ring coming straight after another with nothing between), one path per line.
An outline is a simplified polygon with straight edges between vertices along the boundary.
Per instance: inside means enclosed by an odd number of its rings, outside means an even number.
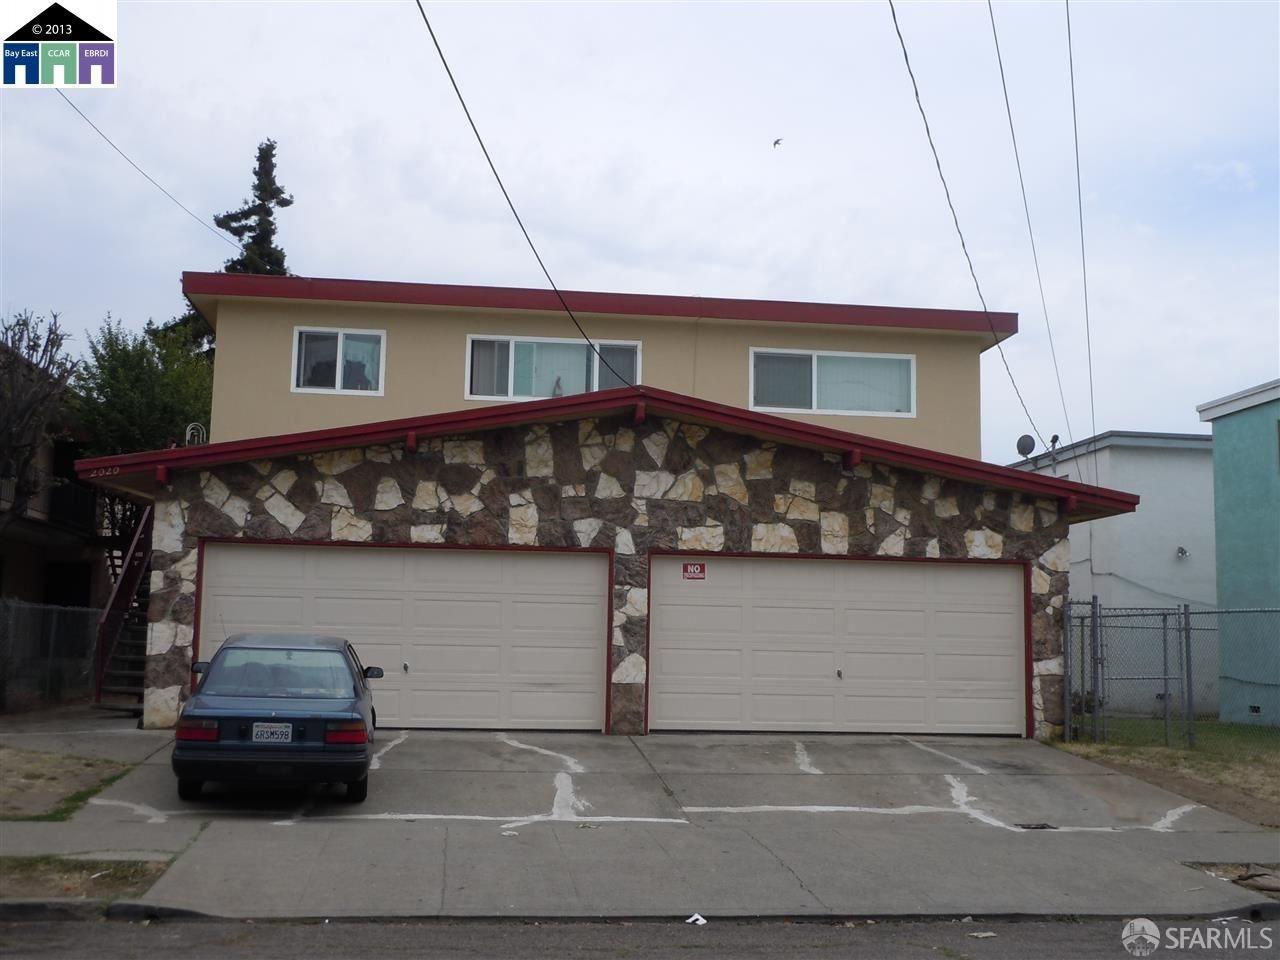
M751 410L915 416L915 357L751 348Z

